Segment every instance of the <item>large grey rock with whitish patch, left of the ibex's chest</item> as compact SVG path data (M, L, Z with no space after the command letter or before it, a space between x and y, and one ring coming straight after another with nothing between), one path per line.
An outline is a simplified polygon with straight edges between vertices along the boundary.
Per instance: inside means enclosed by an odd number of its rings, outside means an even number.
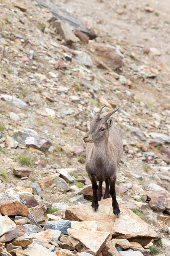
M14 131L14 139L19 144L31 145L40 150L48 149L51 146L51 142L45 137L40 137L34 130L23 129Z

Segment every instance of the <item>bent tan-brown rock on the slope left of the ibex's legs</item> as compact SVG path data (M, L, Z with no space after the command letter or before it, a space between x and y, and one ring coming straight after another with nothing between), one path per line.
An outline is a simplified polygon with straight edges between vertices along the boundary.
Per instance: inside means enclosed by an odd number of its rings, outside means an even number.
M49 177L44 177L42 180L39 182L39 186L42 189L47 188L48 186L51 186L52 184L56 184L56 186L59 189L62 189L63 191L68 191L70 190L70 187L68 184L63 180L62 178L59 177L59 173L56 173L54 175L51 175Z

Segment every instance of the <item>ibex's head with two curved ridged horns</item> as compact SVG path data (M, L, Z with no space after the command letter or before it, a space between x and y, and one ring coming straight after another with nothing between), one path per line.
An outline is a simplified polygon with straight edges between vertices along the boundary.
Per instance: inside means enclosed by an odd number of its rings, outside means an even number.
M108 137L109 129L113 125L113 117L111 117L111 119L109 119L109 117L113 115L113 113L118 111L119 108L109 112L107 115L100 118L102 109L105 106L106 105L102 106L97 114L95 114L95 112L93 111L94 119L90 123L90 130L83 137L85 143L100 143L102 142L102 140Z

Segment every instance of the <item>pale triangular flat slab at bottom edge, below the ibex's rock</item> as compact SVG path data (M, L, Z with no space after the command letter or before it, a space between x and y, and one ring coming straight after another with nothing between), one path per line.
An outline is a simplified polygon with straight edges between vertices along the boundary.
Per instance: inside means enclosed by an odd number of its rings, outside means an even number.
M74 229L68 229L68 234L74 239L79 240L87 248L87 253L91 253L92 255L97 255L102 251L110 236L109 232L89 230L79 230L77 232Z

